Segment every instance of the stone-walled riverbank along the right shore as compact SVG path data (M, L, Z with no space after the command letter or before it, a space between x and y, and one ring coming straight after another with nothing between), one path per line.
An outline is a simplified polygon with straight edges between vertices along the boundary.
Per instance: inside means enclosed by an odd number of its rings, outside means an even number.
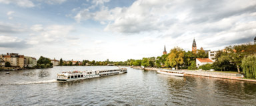
M142 69L140 67L131 67L135 69ZM161 68L145 68L144 70L152 70L157 71L161 70ZM165 69L166 70L166 69ZM184 76L205 76L211 78L223 78L223 79L235 79L240 81L253 81L256 82L255 79L245 79L241 78L241 74L238 73L226 73L226 72L208 72L208 71L201 71L201 70L178 70L180 72L184 72Z

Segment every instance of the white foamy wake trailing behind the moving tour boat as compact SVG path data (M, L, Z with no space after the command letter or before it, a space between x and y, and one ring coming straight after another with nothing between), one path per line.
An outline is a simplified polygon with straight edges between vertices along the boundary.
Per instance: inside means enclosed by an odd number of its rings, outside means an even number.
M27 85L27 84L41 84L41 83L56 83L57 79L43 80L43 81L27 81L27 82L15 82L15 83L1 83L0 85Z

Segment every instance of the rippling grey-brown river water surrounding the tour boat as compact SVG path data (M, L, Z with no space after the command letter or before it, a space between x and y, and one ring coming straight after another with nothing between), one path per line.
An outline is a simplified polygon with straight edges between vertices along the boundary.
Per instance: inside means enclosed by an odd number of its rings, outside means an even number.
M0 72L0 105L256 105L256 83L199 76L174 77L127 68L126 74L56 81L71 70L115 66L57 66Z

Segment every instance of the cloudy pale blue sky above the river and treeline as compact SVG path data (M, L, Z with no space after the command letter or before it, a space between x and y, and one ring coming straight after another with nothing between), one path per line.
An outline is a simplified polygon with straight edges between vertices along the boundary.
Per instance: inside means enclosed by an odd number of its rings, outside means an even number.
M255 36L255 0L0 0L0 54L125 61Z

